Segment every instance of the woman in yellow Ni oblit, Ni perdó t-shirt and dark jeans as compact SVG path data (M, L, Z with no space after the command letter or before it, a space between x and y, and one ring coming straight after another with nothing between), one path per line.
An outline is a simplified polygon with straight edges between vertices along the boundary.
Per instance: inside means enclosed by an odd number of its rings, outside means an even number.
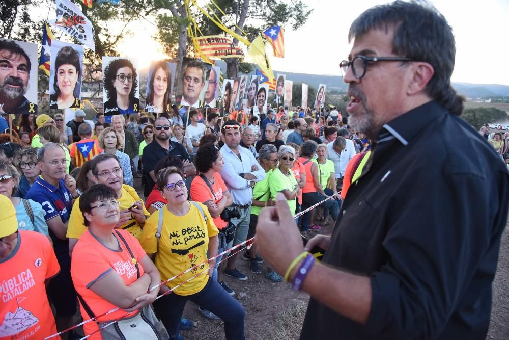
M148 254L155 254L162 280L192 268L161 286L163 294L171 289L172 294L154 302L157 317L177 339L182 312L191 300L224 321L227 339L244 339L244 308L212 278L215 260L207 262L218 249L218 230L207 206L187 200L184 175L175 167L157 173L157 186L168 204L146 221L141 244ZM205 275L190 280L200 273Z

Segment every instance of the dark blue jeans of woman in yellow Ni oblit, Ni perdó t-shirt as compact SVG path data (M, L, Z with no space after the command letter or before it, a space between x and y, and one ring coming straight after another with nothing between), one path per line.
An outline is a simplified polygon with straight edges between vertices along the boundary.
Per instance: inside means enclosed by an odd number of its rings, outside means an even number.
M156 316L166 327L171 339L179 337L180 318L188 300L221 318L224 321L224 335L227 339L245 339L244 307L213 278L209 278L207 285L198 293L178 295L172 292L154 301Z

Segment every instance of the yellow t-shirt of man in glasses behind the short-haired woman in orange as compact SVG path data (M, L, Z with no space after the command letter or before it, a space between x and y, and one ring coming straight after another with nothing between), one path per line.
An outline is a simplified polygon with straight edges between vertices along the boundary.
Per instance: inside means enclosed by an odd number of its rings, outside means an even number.
M127 184L122 185L122 196L119 198L120 202L120 210L129 209L135 201L142 200L139 198L136 190L133 187L128 186ZM150 216L149 212L145 208L143 204L143 214L147 217ZM126 229L129 233L134 236L136 239L142 236L142 228L139 226L138 222L134 218L131 218L127 221L120 229ZM87 230L87 227L84 225L83 214L81 210L79 210L79 197L74 201L71 211L71 217L69 218L69 223L67 225L67 234L66 237L71 239L79 239L79 237Z

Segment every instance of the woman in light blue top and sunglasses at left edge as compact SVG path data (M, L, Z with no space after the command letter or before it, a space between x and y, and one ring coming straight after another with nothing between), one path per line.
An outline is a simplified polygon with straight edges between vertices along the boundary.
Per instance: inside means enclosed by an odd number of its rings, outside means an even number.
M13 165L0 161L0 194L9 198L16 209L18 230L37 231L47 236L51 242L41 204L31 199L13 196L18 190L19 178L19 172Z

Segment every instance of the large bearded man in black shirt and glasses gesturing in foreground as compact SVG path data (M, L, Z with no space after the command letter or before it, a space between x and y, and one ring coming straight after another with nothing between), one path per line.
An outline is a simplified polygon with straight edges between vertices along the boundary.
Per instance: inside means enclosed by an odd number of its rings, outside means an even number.
M260 213L258 250L312 296L302 339L483 339L509 172L459 118L451 28L431 5L394 2L361 14L349 37L348 122L376 145L332 235L306 245L326 250L322 264L299 260L282 195Z

